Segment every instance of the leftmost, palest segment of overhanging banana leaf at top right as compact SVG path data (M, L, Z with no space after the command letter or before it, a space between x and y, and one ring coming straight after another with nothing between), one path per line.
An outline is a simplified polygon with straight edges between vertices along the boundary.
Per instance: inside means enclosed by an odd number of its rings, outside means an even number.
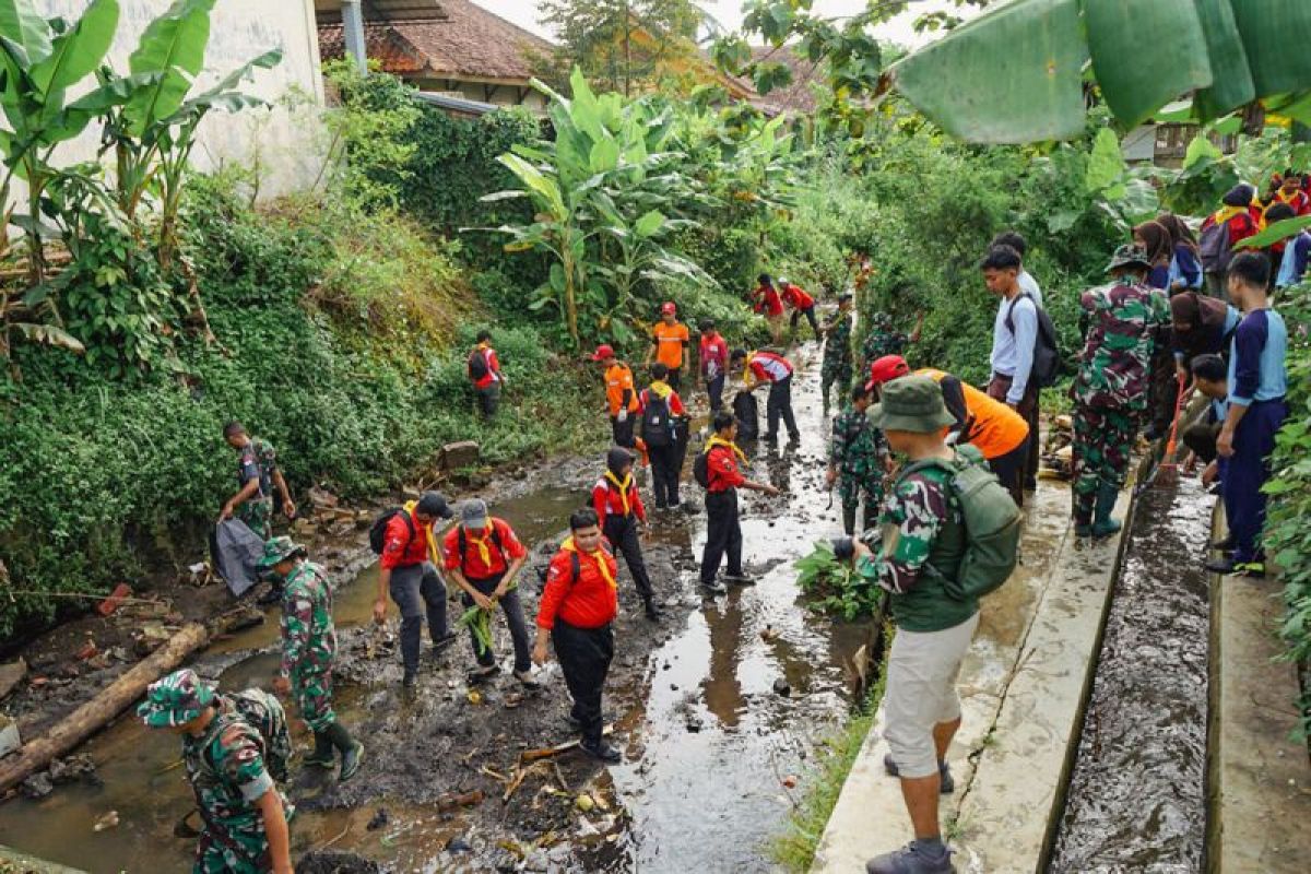
M1087 60L1079 0L1015 0L890 72L901 93L953 136L1028 143L1083 130Z

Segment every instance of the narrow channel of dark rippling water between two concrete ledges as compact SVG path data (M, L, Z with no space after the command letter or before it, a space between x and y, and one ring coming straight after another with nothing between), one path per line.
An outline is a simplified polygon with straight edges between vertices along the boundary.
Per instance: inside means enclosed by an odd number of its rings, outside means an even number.
M1203 870L1214 503L1196 480L1138 498L1050 871Z

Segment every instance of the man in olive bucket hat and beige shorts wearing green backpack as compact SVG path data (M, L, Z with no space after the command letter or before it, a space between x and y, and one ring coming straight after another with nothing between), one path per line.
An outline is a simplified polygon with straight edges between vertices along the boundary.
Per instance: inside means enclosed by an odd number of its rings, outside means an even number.
M877 552L853 544L856 573L889 599L897 634L888 655L888 772L902 781L915 840L869 860L869 874L953 871L937 822L954 786L947 751L961 726L956 677L978 628L978 599L1015 570L1020 511L971 447L947 446L956 419L927 376L882 389L869 422L907 459L884 506Z

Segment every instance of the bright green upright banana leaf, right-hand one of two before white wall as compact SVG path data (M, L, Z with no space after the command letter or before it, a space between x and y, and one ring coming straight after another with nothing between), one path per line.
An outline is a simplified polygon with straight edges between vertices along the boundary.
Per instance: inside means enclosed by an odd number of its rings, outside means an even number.
M176 0L147 25L142 41L128 56L132 73L163 72L152 88L135 94L123 107L128 131L142 136L146 128L169 118L181 106L191 83L205 66L210 42L210 10L215 0Z

